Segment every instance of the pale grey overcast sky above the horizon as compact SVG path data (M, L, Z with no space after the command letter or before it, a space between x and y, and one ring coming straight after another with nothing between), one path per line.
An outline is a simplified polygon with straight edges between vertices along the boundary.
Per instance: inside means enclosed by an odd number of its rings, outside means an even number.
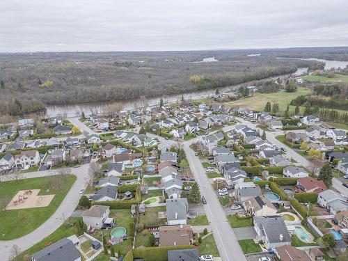
M348 45L348 0L0 0L0 52Z

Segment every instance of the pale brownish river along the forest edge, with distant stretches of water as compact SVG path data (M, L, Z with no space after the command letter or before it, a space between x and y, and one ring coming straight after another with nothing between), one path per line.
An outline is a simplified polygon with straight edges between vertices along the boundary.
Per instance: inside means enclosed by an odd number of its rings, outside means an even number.
M280 57L279 57L280 58ZM315 60L322 61L325 63L325 69L331 68L345 68L348 65L348 62L345 61L327 61L317 58L301 58L303 60ZM214 57L209 57L203 59L200 62L217 62ZM308 68L297 68L296 72L294 72L295 76L300 76L307 73ZM284 77L285 75L279 75L279 77ZM271 77L274 78L274 77ZM244 83L245 84L245 83ZM241 86L240 84L234 86L227 86L223 88L219 88L221 93L230 92L232 90L236 90ZM177 100L181 100L182 95L184 95L185 99L198 100L200 98L209 97L214 95L215 89L196 91L193 93L184 93L177 95L164 95L162 98L164 102L176 102ZM152 97L146 100L146 104L152 106L155 104L159 104L159 100L161 97ZM113 104L122 104L123 109L130 110L134 109L135 106L143 106L142 102L139 99L136 100L126 100L126 101L117 101L117 102L95 102L95 103L86 103L86 104L59 104L59 105L49 105L47 106L47 111L45 113L46 117L54 117L54 116L66 116L66 117L74 117L79 116L82 112L85 115L89 115L90 113L102 113L104 111L108 111Z

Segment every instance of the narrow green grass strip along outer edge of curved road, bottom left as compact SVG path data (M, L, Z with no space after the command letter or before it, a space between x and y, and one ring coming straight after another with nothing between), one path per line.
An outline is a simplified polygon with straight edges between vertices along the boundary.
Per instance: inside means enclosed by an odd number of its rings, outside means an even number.
M63 223L63 225L57 228L51 235L45 237L40 242L38 242L38 244L35 244L31 248L21 253L17 260L22 261L24 255L33 255L33 253L36 253L40 251L42 248L45 248L46 246L53 244L54 242L57 242L63 237L70 237L71 235L77 234L77 228L76 226L74 226L75 220L76 219L74 218L69 218L68 221Z

